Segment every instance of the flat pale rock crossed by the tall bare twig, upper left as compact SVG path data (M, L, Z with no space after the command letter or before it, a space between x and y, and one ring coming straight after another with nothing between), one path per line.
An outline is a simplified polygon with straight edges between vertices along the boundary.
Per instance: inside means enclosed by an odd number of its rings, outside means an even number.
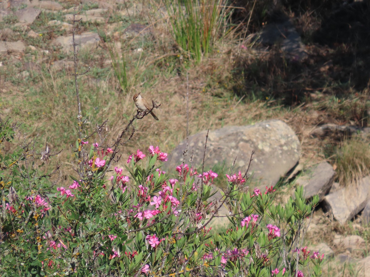
M100 41L99 35L93 32L87 32L75 36L75 42L78 44L77 48L80 49L86 48L91 49L93 47L97 47L99 41ZM73 51L72 42L73 40L71 35L58 37L55 39L55 43L61 45L65 52Z

